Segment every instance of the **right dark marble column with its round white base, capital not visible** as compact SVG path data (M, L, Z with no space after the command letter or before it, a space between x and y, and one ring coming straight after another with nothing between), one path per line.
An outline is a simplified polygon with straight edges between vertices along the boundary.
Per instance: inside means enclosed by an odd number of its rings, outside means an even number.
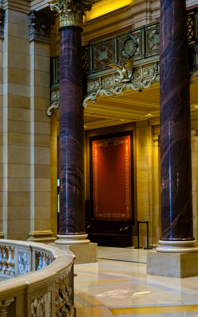
M161 0L160 141L162 237L157 251L195 251L190 87L185 0ZM197 250L196 250L197 251Z

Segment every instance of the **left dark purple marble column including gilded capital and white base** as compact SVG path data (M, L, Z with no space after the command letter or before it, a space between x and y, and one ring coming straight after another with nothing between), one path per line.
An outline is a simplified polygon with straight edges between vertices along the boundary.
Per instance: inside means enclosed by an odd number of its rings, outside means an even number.
M59 195L58 244L84 244L84 113L82 82L82 18L91 0L49 2L60 18Z

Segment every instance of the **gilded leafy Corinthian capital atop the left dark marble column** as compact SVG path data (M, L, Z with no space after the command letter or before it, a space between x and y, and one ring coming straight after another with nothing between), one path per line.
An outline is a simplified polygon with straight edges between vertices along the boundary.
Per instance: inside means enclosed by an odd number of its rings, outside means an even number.
M52 0L48 1L52 11L57 11L61 26L82 27L85 11L90 11L94 0Z

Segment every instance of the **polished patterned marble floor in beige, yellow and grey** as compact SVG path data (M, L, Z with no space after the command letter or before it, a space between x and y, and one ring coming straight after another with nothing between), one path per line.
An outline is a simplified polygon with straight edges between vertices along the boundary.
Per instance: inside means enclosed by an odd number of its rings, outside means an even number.
M198 277L146 275L147 250L98 250L98 263L74 265L77 317L198 317Z

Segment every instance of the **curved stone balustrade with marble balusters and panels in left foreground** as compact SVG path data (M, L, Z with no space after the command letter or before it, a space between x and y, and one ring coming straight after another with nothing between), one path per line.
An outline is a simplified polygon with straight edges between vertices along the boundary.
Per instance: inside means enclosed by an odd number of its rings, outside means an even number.
M0 283L0 317L75 317L74 259L50 244L1 239L0 276L15 277Z

